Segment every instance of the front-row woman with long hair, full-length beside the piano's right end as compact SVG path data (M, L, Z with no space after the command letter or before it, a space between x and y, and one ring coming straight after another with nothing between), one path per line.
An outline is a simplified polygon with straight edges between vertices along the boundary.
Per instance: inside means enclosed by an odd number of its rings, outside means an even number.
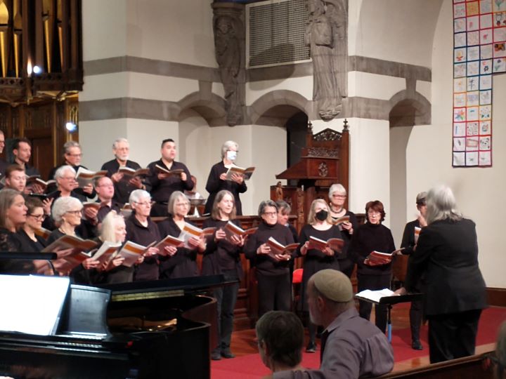
M218 309L218 346L213 350L213 360L233 358L230 350L231 336L233 331L233 311L239 292L239 281L242 279L242 264L240 252L244 245L243 237L226 238L223 227L229 222L240 227L240 222L235 220L235 204L233 194L222 189L216 198L212 208L211 218L204 221L203 227L216 227L216 232L207 239L207 248L202 259L202 275L223 274L226 280L236 281L231 286L214 289Z

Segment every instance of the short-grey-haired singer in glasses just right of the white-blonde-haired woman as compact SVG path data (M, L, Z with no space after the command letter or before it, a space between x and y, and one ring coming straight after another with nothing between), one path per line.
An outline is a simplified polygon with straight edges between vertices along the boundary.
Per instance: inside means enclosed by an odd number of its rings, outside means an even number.
M129 203L132 213L126 220L126 240L142 246L148 246L153 241L160 241L158 227L150 218L151 197L144 189L135 189L131 192ZM134 270L134 281L157 280L158 248L151 246L144 253L144 260Z

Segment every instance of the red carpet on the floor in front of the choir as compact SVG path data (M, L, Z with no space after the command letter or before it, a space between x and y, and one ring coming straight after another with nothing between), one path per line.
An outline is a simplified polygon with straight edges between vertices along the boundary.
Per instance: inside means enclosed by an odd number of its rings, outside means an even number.
M495 342L498 328L506 319L505 308L491 307L481 314L476 345L486 345ZM392 332L392 346L396 361L404 361L416 357L424 357L429 354L427 345L427 325L422 326L422 345L424 350L411 349L411 334L409 328L397 329L394 325ZM302 366L307 368L318 368L320 366L320 352L316 354L304 353ZM257 379L270 373L262 364L259 354L249 354L234 359L222 359L211 362L212 379Z

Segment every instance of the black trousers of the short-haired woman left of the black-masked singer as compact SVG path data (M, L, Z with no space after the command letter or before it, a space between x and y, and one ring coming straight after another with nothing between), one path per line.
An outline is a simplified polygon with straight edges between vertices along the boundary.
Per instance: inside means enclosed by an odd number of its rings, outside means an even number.
M261 317L270 310L290 310L292 285L290 275L263 275L257 271L259 314Z

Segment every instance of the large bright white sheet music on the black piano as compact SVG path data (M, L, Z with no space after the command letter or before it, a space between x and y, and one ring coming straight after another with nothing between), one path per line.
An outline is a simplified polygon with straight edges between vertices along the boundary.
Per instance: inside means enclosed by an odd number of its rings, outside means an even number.
M68 277L0 275L0 330L53 334L69 286Z

